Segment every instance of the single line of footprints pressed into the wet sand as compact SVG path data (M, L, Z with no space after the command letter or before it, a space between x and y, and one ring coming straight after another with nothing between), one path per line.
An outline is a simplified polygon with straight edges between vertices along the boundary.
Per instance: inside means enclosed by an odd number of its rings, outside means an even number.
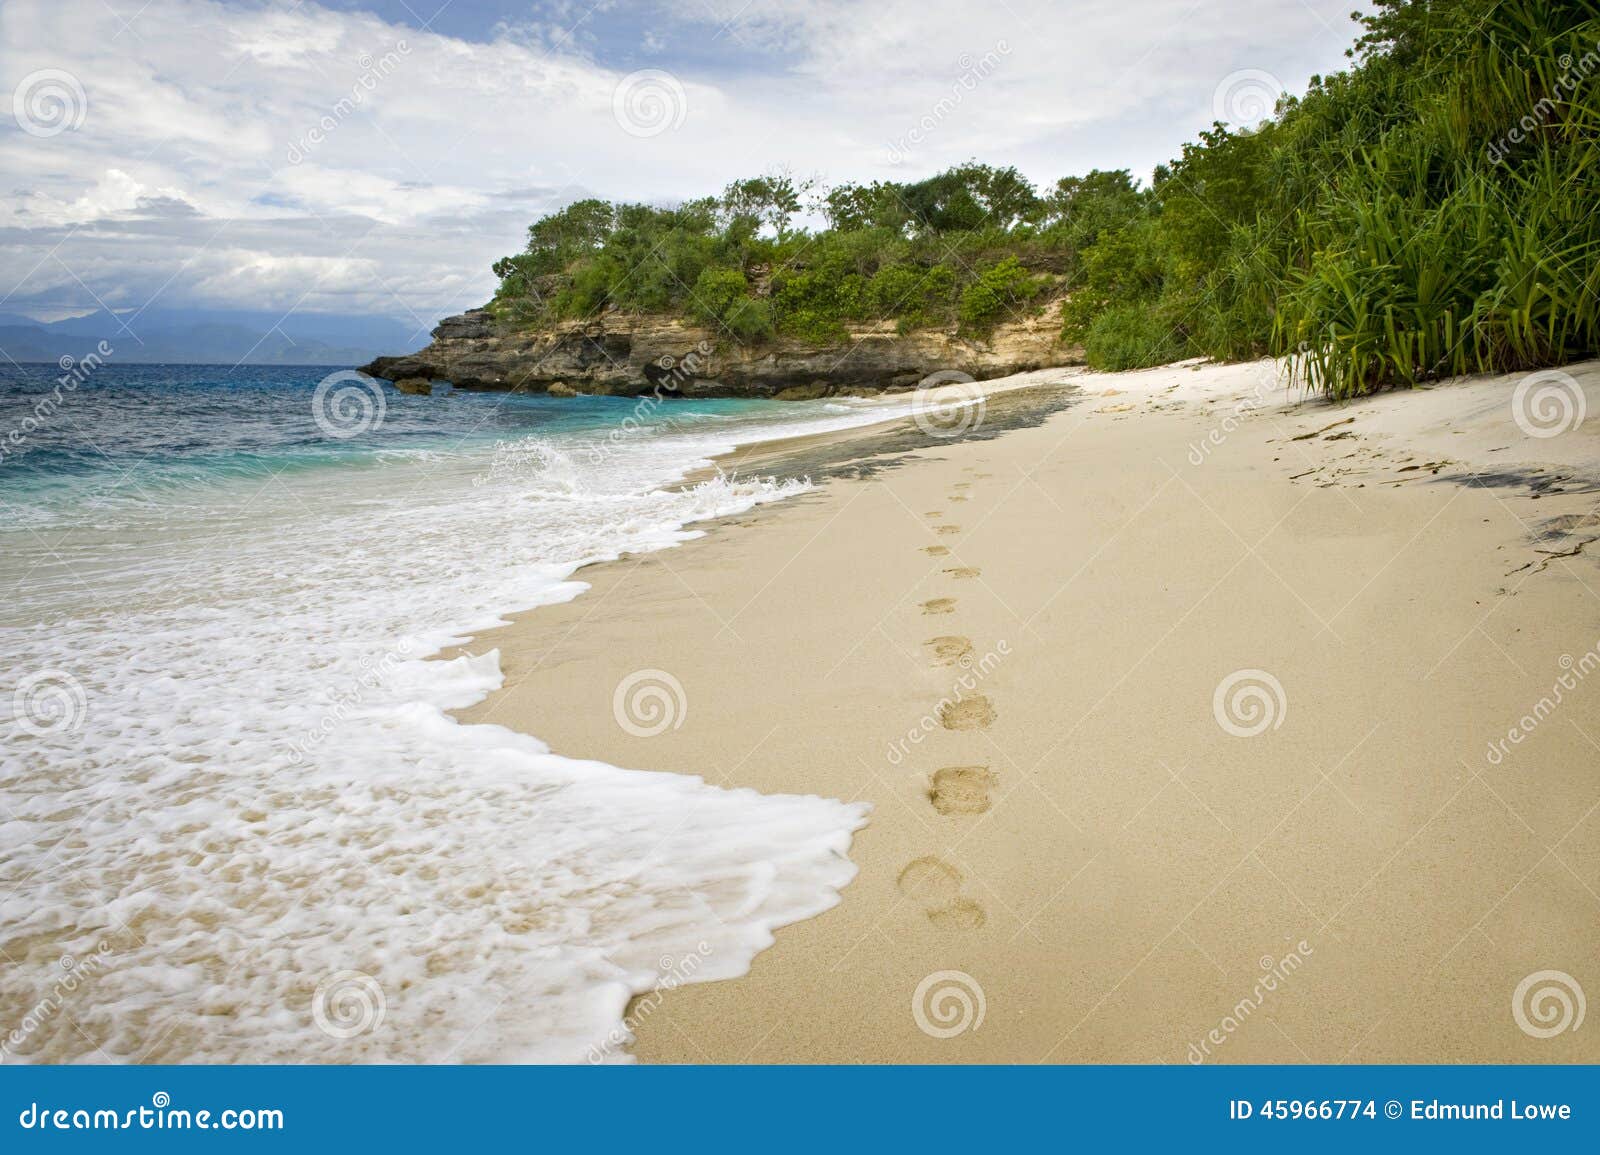
M968 469L966 472L973 472ZM976 474L976 477L990 477ZM957 482L955 491L949 494L952 504L966 501L966 490L971 482ZM934 533L941 538L954 538L962 533L958 525L944 523L944 510L930 510L930 522L938 522ZM928 557L949 557L947 546L925 546ZM950 566L942 573L955 581L971 581L978 578L976 566ZM931 617L955 613L954 597L931 598L922 603L922 611ZM922 643L934 665L950 665L966 669L973 661L971 638L947 633L928 638ZM939 725L944 729L989 729L995 720L994 702L984 694L963 693L960 697L950 694L941 699L938 709ZM942 766L933 771L928 784L928 801L936 811L952 817L968 817L989 809L990 792L998 777L989 766ZM910 901L922 907L928 921L941 928L976 929L984 925L984 909L973 897L962 893L962 872L936 854L925 854L912 859L899 873L899 889Z

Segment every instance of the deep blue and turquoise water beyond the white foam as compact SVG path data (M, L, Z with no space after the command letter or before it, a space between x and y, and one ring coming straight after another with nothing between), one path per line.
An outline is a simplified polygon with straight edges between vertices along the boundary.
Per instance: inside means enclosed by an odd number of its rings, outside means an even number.
M318 405L317 387L328 376L310 366L101 365L77 374L56 365L6 366L0 370L0 498L70 502L122 483L158 490L259 482L394 454L470 454L538 435L603 440L640 410L630 397L453 389L411 397L349 379L334 382ZM341 387L349 414L342 422L336 413ZM51 406L50 416L37 416L42 402ZM720 398L645 405L638 421L646 430L683 432L760 426L792 416L774 410L814 408Z

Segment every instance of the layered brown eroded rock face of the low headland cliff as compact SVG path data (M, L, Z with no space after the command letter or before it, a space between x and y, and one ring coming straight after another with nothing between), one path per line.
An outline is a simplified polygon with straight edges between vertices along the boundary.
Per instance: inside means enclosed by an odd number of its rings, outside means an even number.
M1082 349L1062 344L1059 333L1059 302L1038 317L1000 325L986 341L942 330L901 336L885 322L853 326L838 344L781 338L758 346L678 317L610 312L526 331L474 309L440 322L427 349L379 357L365 371L389 381L448 381L458 389L787 400L912 389L939 371L986 381L1082 363Z

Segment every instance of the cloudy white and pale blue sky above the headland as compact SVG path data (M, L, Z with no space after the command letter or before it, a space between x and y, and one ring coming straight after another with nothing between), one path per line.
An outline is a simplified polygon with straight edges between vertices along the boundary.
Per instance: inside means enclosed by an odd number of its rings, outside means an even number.
M0 314L422 333L582 197L1147 178L1344 67L1352 0L0 0Z

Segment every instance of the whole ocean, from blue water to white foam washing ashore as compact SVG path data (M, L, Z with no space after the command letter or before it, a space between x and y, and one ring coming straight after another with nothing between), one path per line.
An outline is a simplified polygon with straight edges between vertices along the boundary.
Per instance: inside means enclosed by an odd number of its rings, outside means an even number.
M864 809L461 725L498 656L429 656L806 488L677 485L717 453L909 410L0 370L0 1057L626 1061L632 995L837 902Z

